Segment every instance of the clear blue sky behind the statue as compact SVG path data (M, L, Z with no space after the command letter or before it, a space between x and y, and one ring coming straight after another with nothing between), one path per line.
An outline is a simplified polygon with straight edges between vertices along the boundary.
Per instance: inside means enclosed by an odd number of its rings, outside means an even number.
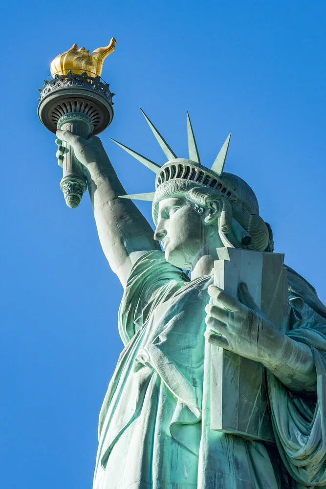
M36 114L50 62L116 37L102 138L129 193L152 191L153 174L110 136L165 161L139 107L180 157L188 110L207 165L232 131L226 170L253 187L275 250L325 302L326 3L32 0L1 13L0 487L89 489L122 289L88 196L71 210L59 189L55 136Z

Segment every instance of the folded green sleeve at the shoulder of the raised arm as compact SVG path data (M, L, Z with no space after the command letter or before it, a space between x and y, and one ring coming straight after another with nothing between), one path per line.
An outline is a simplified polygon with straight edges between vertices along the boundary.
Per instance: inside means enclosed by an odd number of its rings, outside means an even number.
M142 328L151 311L168 300L189 277L165 260L159 250L142 255L133 265L119 309L119 333L126 345Z

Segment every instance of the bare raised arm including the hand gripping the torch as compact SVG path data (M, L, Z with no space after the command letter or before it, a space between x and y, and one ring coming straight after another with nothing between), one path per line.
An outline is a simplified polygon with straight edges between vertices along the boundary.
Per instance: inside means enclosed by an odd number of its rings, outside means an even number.
M57 156L63 158L61 141L68 142L85 168L98 235L112 270L126 285L130 268L145 251L157 249L150 224L129 199L103 148L100 138L89 139L69 131L57 131Z

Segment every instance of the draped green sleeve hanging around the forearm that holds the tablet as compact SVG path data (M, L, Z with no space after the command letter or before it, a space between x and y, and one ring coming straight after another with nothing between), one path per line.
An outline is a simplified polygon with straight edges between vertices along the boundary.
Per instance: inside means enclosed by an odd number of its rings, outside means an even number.
M309 308L305 322L294 309L299 327L294 326L288 335L311 348L317 392L312 396L294 394L267 372L274 434L291 477L304 487L326 488L326 320Z

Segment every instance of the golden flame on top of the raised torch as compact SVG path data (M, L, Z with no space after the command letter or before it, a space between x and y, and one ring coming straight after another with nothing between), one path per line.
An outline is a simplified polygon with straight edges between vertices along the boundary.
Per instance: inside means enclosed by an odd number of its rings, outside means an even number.
M59 54L51 63L51 75L66 75L69 70L76 75L80 75L83 71L89 76L100 76L102 73L103 63L105 58L114 51L116 40L112 37L110 44L106 47L98 47L89 54L89 49L85 47L78 49L77 44L73 44L68 51Z

